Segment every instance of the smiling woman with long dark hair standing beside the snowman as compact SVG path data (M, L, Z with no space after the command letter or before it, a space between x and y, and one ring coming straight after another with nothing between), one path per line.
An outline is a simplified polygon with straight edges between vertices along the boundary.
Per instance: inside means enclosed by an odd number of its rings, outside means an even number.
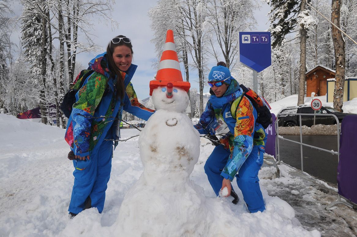
M119 139L123 109L141 119L154 110L138 102L130 82L137 68L132 64L130 38L112 38L107 51L89 63L94 72L76 94L65 140L75 154L74 185L68 211L73 217L84 209L103 211L110 177L113 141ZM114 148L117 142L114 143Z

